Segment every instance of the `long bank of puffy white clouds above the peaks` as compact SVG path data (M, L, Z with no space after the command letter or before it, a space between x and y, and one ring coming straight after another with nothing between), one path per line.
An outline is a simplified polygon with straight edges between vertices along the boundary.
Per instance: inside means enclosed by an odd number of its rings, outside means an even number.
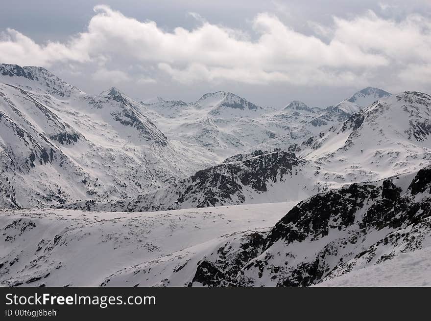
M388 74L395 75L393 81L414 81L413 70L431 64L431 21L420 15L393 21L369 11L349 20L334 17L330 26L309 22L318 36L324 36L322 41L268 13L255 17L251 37L197 14L193 17L200 21L198 27L167 32L154 21L137 21L104 5L96 6L95 12L87 30L67 43L37 44L7 29L0 38L0 61L44 66L95 63L100 69L93 77L98 81L130 81L132 76L119 65L140 64L149 70L155 66L153 73L162 72L184 84L329 86L366 84L370 79L376 83ZM112 62L117 64L115 70L108 70ZM154 83L157 75L133 77ZM428 72L421 77L421 83L431 81Z

